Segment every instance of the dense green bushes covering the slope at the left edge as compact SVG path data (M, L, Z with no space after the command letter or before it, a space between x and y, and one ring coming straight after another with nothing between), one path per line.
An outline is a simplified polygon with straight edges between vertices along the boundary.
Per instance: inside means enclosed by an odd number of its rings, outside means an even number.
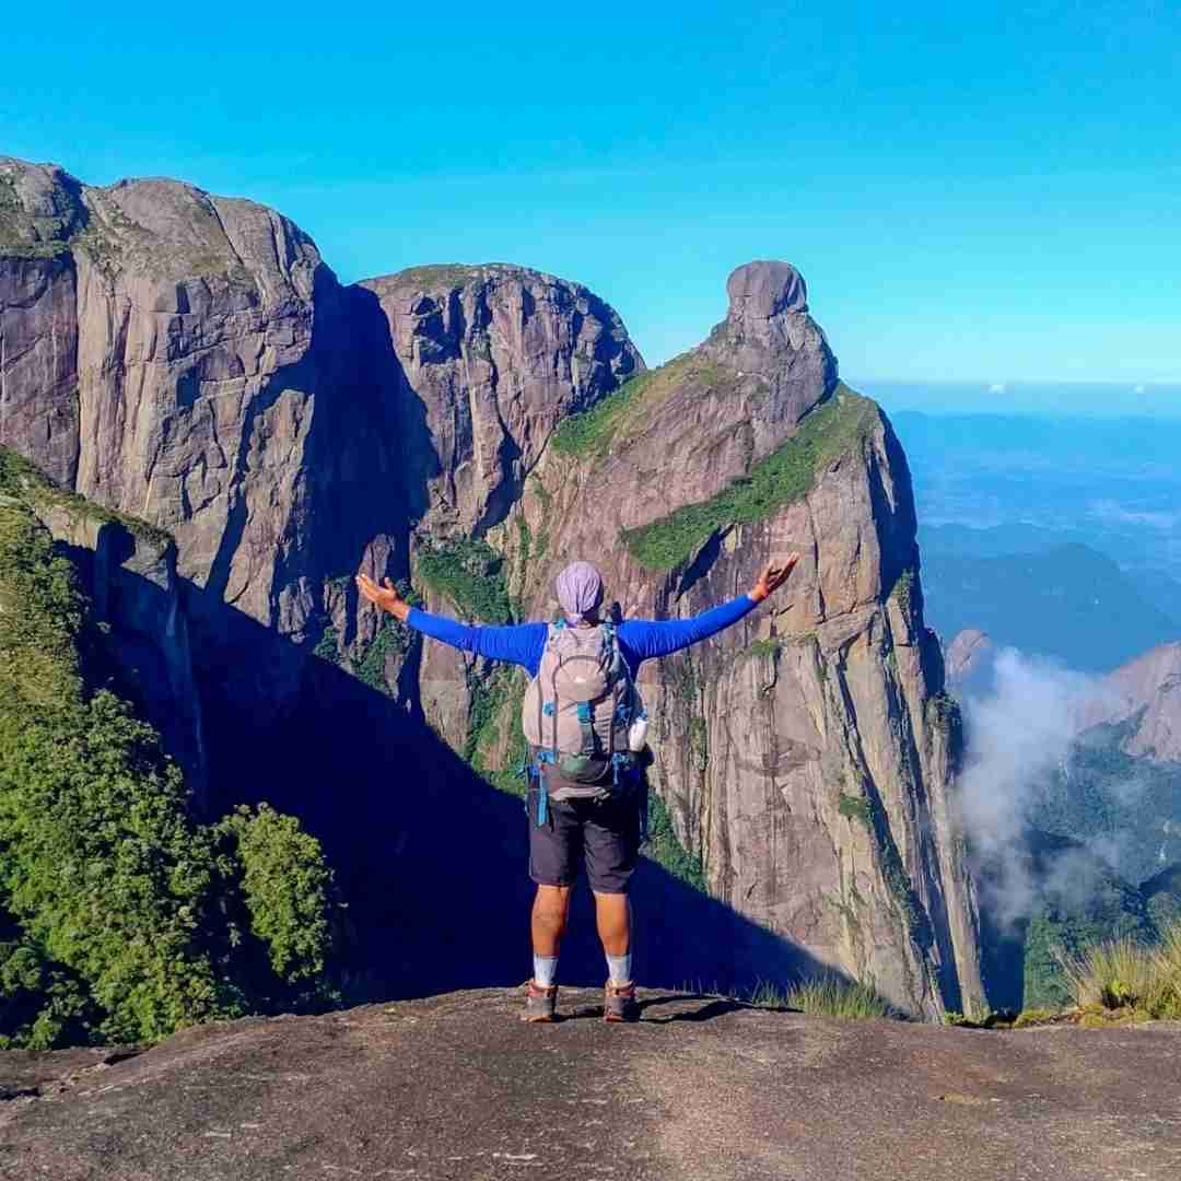
M325 1003L332 875L318 843L266 805L194 822L156 732L87 687L90 605L5 491L0 1045L152 1040Z

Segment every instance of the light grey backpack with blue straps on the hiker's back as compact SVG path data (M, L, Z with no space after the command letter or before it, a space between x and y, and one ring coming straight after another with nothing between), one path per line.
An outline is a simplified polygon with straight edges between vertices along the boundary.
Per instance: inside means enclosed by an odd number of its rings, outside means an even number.
M548 792L553 800L612 795L620 785L620 771L635 764L628 729L642 712L613 624L550 625L537 676L526 690L521 722L539 777L553 766L563 781Z

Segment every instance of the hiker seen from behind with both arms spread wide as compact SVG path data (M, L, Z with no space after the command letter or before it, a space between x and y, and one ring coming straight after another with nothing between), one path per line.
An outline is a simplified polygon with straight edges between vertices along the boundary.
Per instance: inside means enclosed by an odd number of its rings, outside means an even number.
M603 583L589 562L557 576L562 618L555 624L483 627L411 607L384 579L357 576L376 607L425 635L489 660L529 671L522 724L529 742L529 876L533 905L533 979L522 1020L552 1022L557 1011L557 952L570 890L585 862L594 893L599 938L607 958L603 1018L640 1014L632 980L628 880L639 856L647 715L635 687L640 665L716 635L781 587L798 554L770 565L751 588L693 619L626 622L600 616Z

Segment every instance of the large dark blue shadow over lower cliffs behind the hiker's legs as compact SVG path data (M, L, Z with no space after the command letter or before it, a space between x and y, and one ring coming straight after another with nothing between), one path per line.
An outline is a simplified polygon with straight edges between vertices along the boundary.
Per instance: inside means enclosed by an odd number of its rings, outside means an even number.
M324 844L348 901L352 999L520 984L529 974L529 823L405 709L194 583L210 815L266 801ZM208 638L208 631L207 631ZM207 663L202 665L200 661ZM289 704L254 711L269 671L298 667ZM274 685L274 681L270 681ZM820 970L813 957L644 860L633 881L637 977L742 991ZM575 893L562 979L601 984L590 895Z

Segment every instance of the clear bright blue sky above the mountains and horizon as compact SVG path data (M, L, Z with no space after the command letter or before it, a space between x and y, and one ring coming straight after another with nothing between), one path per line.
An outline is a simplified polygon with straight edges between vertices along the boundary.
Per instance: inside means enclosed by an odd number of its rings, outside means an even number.
M0 45L0 152L267 202L344 280L539 267L655 363L779 257L853 378L1181 380L1176 0L58 0Z

